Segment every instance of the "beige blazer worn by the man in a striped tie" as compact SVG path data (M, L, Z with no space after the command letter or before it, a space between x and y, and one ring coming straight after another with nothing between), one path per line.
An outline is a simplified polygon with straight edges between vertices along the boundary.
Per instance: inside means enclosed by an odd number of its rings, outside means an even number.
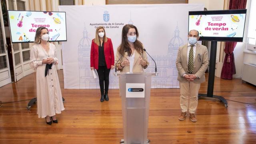
M178 50L177 59L176 59L176 67L178 69L178 80L180 82L188 82L185 78L182 77L184 73L188 74L187 52L188 52L188 43L183 46L180 46ZM208 67L208 50L206 46L203 46L197 43L193 74L196 74L198 78L194 80L194 83L198 84L198 83L205 82L204 75L207 67Z

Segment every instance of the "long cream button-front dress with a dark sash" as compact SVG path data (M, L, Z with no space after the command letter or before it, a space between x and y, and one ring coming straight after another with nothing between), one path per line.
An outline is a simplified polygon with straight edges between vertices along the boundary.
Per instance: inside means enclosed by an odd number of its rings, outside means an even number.
M56 58L56 48L54 44L49 44L49 52L46 52L40 44L32 46L30 52L30 67L36 70L36 94L37 94L37 114L38 118L54 116L64 110L60 83L55 64L58 64ZM54 58L52 69L49 74L44 76L46 64L42 60Z

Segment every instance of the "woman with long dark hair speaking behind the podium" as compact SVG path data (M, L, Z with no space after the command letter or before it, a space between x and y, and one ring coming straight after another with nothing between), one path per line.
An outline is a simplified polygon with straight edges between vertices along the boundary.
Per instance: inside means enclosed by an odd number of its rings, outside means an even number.
M122 42L118 46L115 58L117 70L121 72L144 72L148 67L148 58L138 40L136 26L126 24L122 29Z

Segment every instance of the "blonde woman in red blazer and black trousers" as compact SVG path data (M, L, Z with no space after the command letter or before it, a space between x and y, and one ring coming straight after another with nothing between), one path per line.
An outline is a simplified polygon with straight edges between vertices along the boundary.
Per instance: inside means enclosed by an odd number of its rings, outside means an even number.
M100 102L108 98L108 85L110 69L114 68L114 50L110 38L106 37L103 26L96 28L95 39L92 40L91 46L91 70L96 69L100 81ZM105 85L105 93L104 93Z

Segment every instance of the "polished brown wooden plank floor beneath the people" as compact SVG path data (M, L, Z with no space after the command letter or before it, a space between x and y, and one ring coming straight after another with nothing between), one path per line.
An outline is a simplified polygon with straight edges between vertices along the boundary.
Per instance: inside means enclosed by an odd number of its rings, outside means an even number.
M110 100L100 102L100 90L64 89L63 71L58 70L65 109L59 123L47 125L38 118L36 105L28 101L2 104L0 144L119 144L123 138L122 107L118 90L109 90ZM207 82L200 93L206 93ZM256 86L241 79L215 78L214 94L228 100L200 98L197 122L180 114L179 89L152 89L148 138L150 144L255 144ZM36 76L30 74L0 88L0 100L11 102L36 97Z

